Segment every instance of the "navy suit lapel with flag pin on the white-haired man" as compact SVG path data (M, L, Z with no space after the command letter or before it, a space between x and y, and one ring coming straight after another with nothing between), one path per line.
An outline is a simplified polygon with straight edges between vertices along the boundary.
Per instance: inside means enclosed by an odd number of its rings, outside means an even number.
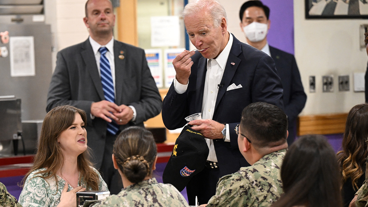
M216 97L215 112L213 116L215 117L217 106L219 105L223 95L226 92L227 87L229 87L231 80L233 80L234 74L241 62L237 57L241 53L241 43L233 35L233 45L231 45L229 57L227 58L224 74L221 79L223 85L222 89L219 90ZM233 63L233 64L232 64Z

